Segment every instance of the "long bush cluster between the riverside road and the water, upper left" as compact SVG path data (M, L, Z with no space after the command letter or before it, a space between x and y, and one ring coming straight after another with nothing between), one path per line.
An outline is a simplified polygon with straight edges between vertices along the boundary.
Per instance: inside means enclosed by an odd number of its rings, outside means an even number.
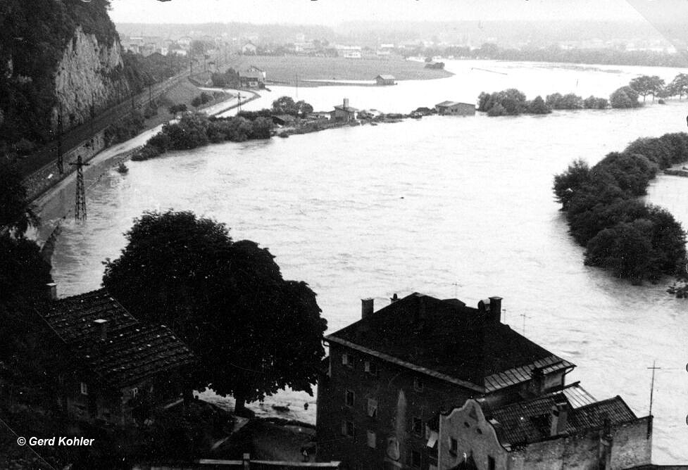
M132 160L148 160L168 150L188 150L211 142L269 139L272 130L273 122L268 118L208 118L203 113L187 113L179 122L165 124L161 132L132 155Z

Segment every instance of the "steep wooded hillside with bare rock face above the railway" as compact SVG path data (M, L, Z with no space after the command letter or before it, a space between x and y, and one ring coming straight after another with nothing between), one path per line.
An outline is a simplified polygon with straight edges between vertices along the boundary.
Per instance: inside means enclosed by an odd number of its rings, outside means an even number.
M109 0L0 1L0 153L54 138L130 92Z

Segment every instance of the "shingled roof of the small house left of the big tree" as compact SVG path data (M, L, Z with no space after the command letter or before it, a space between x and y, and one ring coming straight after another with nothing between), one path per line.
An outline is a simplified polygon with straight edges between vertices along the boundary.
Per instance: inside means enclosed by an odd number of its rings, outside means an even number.
M105 289L54 300L39 315L77 360L114 388L194 362L172 330L139 323ZM106 320L104 339L98 319Z

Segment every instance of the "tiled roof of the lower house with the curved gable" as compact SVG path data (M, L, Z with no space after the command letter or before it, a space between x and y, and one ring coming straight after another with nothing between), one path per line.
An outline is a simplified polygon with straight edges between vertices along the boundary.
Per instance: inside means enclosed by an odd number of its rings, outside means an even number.
M499 423L496 432L501 443L513 447L551 438L551 410L557 403L565 404L568 409L568 434L601 429L606 422L613 426L637 419L619 396L574 408L563 393L515 402L492 410L485 407L483 411L488 421L496 420Z

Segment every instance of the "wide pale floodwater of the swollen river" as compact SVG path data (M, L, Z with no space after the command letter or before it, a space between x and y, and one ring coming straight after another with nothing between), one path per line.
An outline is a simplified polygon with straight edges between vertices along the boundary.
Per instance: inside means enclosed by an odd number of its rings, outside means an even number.
M490 61L447 61L447 68L456 75L394 87L276 87L248 107L289 94L316 110L348 97L357 108L408 112L508 87L529 98L608 96L639 73L670 81L682 71ZM688 300L665 293L669 280L631 286L585 267L551 185L575 158L594 164L639 136L686 130L687 113L688 102L670 101L516 118L434 116L173 152L127 163L127 174L101 168L87 182L87 222L63 222L53 276L61 296L98 288L101 262L118 256L132 220L174 208L225 222L234 239L269 248L285 278L318 293L330 332L360 317L360 298L375 298L377 309L393 293L470 305L502 296L504 321L577 364L568 381L581 381L598 400L621 395L645 416L656 360L653 460L684 462ZM688 179L659 176L646 199L688 227ZM46 227L71 208L73 189L53 200L42 213ZM315 421L315 398L304 393L287 390L252 407L275 414L275 403L289 405L286 417Z

